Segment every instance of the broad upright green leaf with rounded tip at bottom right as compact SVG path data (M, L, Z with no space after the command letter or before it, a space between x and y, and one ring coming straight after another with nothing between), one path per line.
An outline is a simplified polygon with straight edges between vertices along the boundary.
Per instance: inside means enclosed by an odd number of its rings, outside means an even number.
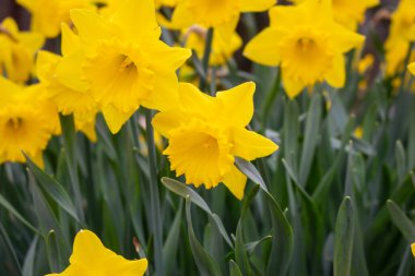
M334 276L349 276L355 235L355 214L351 197L344 197L335 221Z

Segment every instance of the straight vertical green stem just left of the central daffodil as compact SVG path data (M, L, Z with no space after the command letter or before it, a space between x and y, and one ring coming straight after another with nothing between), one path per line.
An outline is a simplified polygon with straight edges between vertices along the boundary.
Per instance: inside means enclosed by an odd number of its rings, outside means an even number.
M163 224L162 211L158 194L157 160L154 143L154 131L152 125L152 111L145 110L146 142L150 160L150 202L151 202L151 227L154 237L154 263L156 264L155 275L165 275L163 264Z

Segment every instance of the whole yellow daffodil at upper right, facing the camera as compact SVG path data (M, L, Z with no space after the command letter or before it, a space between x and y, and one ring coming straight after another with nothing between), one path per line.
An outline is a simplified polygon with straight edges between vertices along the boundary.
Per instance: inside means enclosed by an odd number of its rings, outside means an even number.
M334 22L330 0L275 7L270 17L270 27L247 45L246 57L264 65L281 65L292 98L317 82L344 86L344 53L365 38Z

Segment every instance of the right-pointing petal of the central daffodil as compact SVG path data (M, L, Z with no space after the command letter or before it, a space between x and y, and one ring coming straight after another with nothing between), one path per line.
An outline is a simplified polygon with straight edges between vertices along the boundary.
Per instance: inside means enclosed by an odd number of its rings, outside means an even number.
M233 155L239 156L246 160L253 160L273 154L278 146L253 131L242 128L235 128Z

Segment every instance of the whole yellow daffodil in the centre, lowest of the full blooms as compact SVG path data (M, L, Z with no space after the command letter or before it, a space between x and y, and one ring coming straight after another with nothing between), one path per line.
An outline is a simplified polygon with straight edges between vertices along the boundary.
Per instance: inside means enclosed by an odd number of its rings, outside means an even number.
M185 175L188 184L211 189L223 182L240 200L247 178L234 165L235 157L253 160L277 149L271 140L246 129L254 89L254 83L246 83L211 97L180 83L181 108L155 116L155 130L168 139L164 154L170 168Z

